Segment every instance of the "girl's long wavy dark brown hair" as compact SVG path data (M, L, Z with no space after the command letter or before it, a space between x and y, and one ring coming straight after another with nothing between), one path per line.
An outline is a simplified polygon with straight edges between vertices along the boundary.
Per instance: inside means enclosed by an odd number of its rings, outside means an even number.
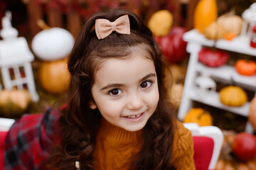
M114 21L128 14L131 34L111 33L98 40L94 26L97 18ZM147 52L154 62L158 85L159 103L155 113L144 127L142 149L132 159L131 169L171 169L172 145L176 130L174 111L166 100L164 86L164 60L152 33L134 13L115 9L95 13L82 27L68 59L71 74L68 91L68 109L60 116L61 142L51 156L51 163L58 169L74 169L75 161L81 169L93 169L92 152L100 125L100 111L90 109L93 77L102 61L108 57L127 57L132 47Z

